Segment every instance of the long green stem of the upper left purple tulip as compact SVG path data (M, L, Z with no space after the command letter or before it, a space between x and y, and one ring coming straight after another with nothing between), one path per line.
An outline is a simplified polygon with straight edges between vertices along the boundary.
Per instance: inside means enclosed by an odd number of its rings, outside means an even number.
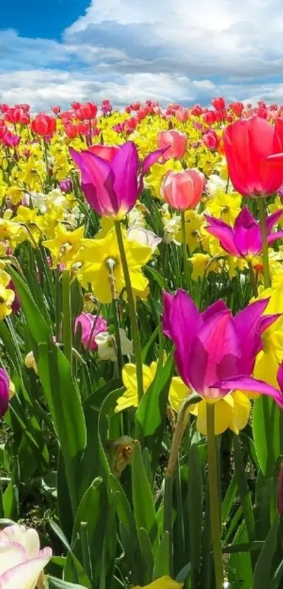
M124 273L124 280L126 285L126 292L128 297L128 304L129 304L129 315L131 320L131 337L133 338L133 351L136 356L136 377L137 377L137 384L138 384L138 402L143 397L143 362L142 362L142 355L140 349L140 334L138 332L138 320L136 316L136 308L135 303L133 300L133 290L131 287L131 277L129 273L129 266L126 259L126 252L124 248L124 241L123 235L121 231L121 223L120 221L115 221L115 229L117 235L117 242L119 247L119 252L121 256L121 265L123 268Z

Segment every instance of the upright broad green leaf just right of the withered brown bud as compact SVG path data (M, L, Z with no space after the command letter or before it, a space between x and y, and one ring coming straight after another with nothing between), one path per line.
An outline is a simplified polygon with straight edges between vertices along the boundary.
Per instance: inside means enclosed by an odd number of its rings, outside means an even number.
M155 519L154 498L147 478L143 457L138 441L133 446L132 461L132 488L133 488L133 510L136 520L138 534L140 529L147 531L152 543L153 555L157 553L159 546L157 521Z

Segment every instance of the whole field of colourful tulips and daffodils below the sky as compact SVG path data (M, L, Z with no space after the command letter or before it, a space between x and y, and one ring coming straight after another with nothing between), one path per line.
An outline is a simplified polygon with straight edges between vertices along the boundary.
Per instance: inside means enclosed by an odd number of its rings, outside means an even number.
M282 589L283 106L0 105L0 589Z

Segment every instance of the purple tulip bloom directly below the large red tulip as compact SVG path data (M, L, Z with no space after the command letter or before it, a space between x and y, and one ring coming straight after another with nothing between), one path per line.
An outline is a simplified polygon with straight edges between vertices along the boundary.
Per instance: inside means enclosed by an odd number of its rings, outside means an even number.
M265 221L268 233L268 245L283 237L283 231L270 233L273 225L275 225L281 215L282 211L277 211L268 216ZM238 214L233 228L220 219L214 219L213 216L204 216L209 224L205 227L206 231L218 238L223 250L231 256L239 258L252 257L258 255L263 249L261 227L251 212L249 212L248 207L244 207Z

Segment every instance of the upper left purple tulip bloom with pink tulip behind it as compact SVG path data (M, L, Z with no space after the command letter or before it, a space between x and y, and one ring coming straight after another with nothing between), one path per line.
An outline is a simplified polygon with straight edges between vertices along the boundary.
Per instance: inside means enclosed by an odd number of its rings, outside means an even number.
M101 216L118 218L133 208L143 189L143 176L162 153L164 149L147 155L140 168L133 141L121 145L111 161L105 161L91 151L79 153L70 148L70 154L81 171L81 188L88 204Z

